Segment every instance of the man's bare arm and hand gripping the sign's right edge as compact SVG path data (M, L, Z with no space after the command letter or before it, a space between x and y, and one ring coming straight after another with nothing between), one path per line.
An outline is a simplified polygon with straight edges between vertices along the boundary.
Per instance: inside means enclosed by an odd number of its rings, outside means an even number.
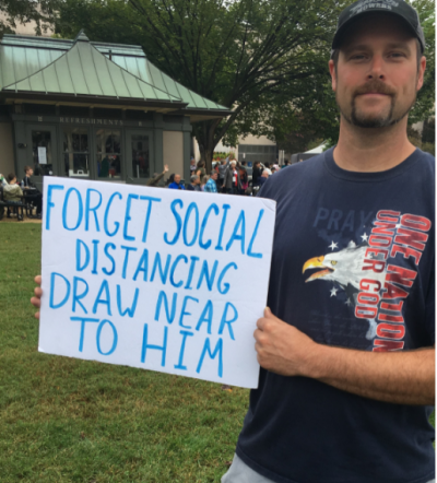
M435 349L371 352L318 344L269 308L255 331L260 365L282 376L318 379L343 391L397 404L434 404Z

